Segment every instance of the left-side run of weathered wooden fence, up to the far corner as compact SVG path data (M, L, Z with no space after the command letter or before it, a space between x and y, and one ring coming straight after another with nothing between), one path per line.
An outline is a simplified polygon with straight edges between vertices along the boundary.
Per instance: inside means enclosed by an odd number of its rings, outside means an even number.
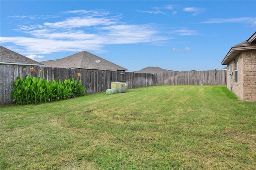
M33 67L35 71L30 72ZM26 65L0 65L0 105L10 104L12 98L11 84L16 78L26 75L40 77L42 70L42 78L48 81L65 79L78 79L78 73L81 74L81 80L86 87L86 94L104 92L111 88L111 82L126 82L127 88L135 88L142 86L154 85L154 77L152 74L126 73L123 71L107 71L107 70L87 70L87 69L66 69L54 67L26 66Z

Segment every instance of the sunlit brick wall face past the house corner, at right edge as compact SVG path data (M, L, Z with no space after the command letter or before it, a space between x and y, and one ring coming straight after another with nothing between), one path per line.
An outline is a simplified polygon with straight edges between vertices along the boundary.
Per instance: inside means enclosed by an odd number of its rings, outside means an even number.
M256 50L243 53L243 100L256 101Z

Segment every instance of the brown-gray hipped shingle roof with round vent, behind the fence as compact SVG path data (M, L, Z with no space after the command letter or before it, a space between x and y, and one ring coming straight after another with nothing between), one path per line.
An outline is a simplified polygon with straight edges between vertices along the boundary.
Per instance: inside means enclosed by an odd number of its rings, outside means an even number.
M100 63L96 63L96 60L100 60ZM64 57L62 59L42 61L42 64L46 67L60 67L60 68L73 68L73 69L98 69L98 70L114 70L114 71L126 71L124 67L111 63L106 59L98 57L87 51L82 51Z

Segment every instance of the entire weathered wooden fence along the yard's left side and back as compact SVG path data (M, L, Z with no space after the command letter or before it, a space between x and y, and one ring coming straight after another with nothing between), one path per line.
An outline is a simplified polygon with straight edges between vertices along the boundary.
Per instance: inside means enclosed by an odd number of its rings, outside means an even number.
M33 67L35 71L30 72ZM173 73L134 73L123 71L66 69L54 67L26 66L26 65L0 65L0 105L12 103L11 84L16 78L26 75L40 77L48 81L65 79L78 79L77 73L81 73L81 80L86 87L86 94L104 92L111 88L111 82L126 82L127 88L145 87L152 85L226 85L226 71L182 71Z

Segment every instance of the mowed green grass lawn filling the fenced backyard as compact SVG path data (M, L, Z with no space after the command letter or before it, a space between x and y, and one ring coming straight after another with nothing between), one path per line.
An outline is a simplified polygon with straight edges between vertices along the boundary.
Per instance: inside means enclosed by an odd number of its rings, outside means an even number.
M1 169L255 169L256 103L151 86L0 108Z

